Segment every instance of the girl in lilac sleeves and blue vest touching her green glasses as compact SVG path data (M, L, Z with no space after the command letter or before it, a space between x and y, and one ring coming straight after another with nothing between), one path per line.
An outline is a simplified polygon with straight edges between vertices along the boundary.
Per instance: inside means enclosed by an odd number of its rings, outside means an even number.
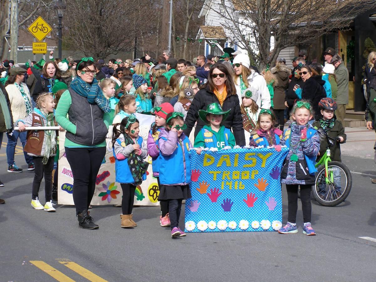
M191 166L189 149L191 142L183 133L186 129L184 115L172 112L166 117L166 126L159 133L159 197L168 201L171 237L185 236L179 228L182 200L191 198Z

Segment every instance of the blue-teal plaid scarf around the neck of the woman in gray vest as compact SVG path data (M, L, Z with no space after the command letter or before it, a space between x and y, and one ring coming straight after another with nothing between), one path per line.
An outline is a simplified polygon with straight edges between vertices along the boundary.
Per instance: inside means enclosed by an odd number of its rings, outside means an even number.
M87 98L90 104L97 104L103 112L111 112L111 106L103 95L98 85L98 80L95 78L93 82L89 84L77 76L71 82L70 87L80 96Z

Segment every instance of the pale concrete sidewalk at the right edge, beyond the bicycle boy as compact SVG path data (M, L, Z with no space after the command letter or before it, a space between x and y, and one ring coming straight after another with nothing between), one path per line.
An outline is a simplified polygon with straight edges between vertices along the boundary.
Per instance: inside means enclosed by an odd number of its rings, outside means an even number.
M373 159L376 134L367 127L346 127L347 141L341 144L341 154Z

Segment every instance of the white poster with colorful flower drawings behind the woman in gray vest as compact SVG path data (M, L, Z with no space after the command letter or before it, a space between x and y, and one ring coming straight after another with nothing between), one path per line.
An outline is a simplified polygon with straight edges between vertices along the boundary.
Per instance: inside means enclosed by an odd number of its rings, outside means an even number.
M153 115L143 115L136 113L136 117L140 123L139 135L147 142L150 125L155 121ZM106 139L107 151L99 173L96 179L96 188L91 205L115 205L121 204L123 193L120 183L115 182L115 158L112 153L111 136L112 130L109 129L108 138ZM58 204L74 205L73 203L73 174L70 169L64 150L65 132L59 132L59 167L58 167ZM148 156L146 159L150 163L146 180L138 185L135 191L136 206L157 206L159 195L159 187L157 180L153 177L152 159Z

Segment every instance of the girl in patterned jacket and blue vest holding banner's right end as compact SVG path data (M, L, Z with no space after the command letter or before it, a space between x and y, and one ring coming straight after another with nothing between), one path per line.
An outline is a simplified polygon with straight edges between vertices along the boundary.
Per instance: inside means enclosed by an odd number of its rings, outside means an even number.
M288 218L285 227L279 233L297 233L296 212L298 209L298 186L303 211L303 234L316 235L311 226L311 189L315 183L316 156L320 150L318 132L308 121L314 115L312 106L306 100L293 106L293 122L285 131L281 145L290 148L281 170L280 179L286 184L288 198Z

